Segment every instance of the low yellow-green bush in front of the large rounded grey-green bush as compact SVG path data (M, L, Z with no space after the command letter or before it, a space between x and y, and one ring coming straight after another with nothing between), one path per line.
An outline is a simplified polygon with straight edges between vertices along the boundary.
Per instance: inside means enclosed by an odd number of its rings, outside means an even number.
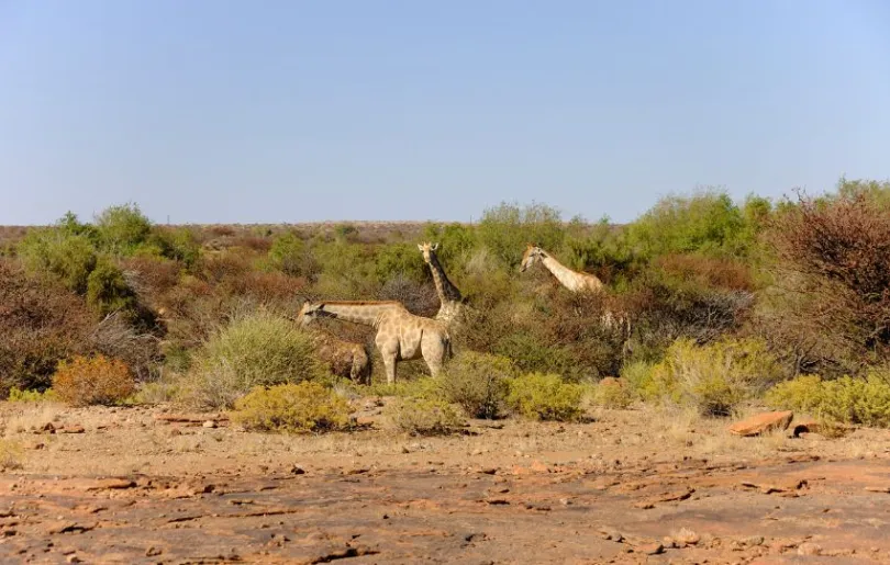
M319 383L256 387L235 402L232 420L248 430L322 432L349 426L349 404Z

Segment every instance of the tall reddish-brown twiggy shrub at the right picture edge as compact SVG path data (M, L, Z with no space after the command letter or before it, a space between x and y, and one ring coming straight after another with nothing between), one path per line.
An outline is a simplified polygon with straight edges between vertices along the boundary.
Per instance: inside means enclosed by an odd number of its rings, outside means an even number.
M758 320L798 369L842 374L890 355L890 214L854 192L798 194L770 223L774 290ZM823 347L834 343L834 347Z

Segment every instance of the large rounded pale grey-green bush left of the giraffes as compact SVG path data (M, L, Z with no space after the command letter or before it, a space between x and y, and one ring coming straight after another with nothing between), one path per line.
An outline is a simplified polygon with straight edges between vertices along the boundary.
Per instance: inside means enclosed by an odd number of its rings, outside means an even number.
M202 408L229 408L255 386L330 380L312 337L289 319L259 310L216 330L192 361L182 399Z

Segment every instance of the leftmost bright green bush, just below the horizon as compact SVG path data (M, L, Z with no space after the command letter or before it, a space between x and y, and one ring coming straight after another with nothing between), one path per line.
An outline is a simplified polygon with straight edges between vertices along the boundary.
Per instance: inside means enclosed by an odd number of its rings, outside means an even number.
M84 294L96 268L92 241L81 234L58 228L35 229L19 244L19 257L29 272L52 275L69 290Z

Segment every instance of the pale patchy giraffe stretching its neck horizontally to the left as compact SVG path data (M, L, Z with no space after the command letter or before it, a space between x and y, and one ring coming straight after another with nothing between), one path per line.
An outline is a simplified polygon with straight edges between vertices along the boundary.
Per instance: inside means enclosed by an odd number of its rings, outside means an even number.
M371 326L383 365L387 383L396 382L396 364L423 358L430 373L437 376L452 354L452 338L440 320L415 316L394 301L322 301L305 302L297 319L305 326L316 318L335 318Z

